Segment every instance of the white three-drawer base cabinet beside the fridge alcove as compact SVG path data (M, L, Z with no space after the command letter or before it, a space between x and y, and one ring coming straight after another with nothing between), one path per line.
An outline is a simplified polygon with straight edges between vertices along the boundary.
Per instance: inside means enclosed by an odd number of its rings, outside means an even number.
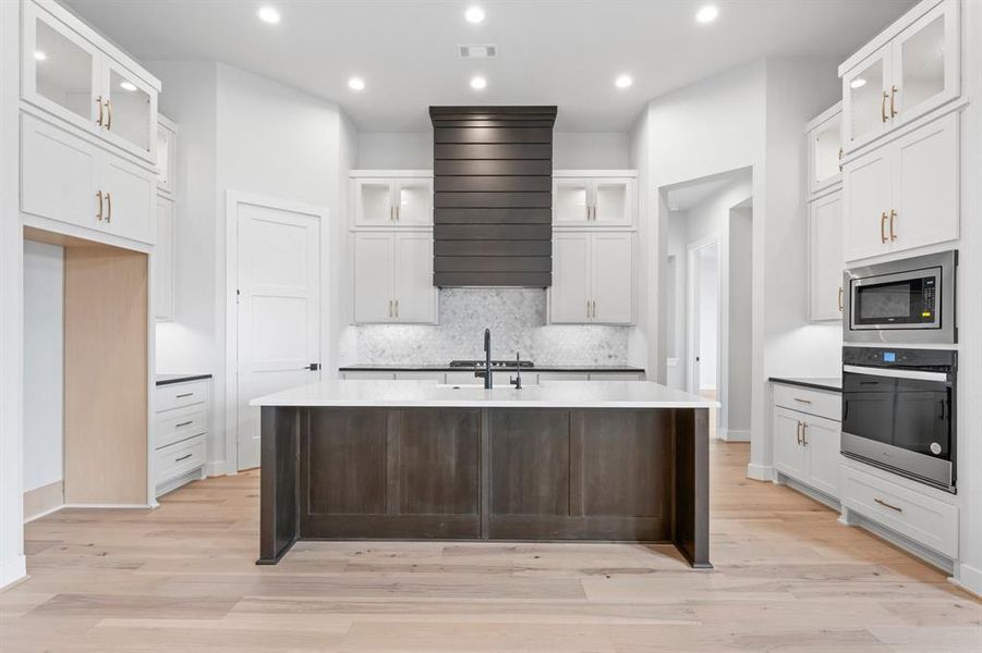
M205 478L210 380L157 386L154 479L157 496Z

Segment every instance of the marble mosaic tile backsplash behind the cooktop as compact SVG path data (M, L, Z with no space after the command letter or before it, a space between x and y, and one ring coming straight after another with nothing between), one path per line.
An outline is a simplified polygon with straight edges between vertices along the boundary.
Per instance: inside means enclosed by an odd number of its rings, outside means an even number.
M340 364L442 364L484 356L484 329L492 354L537 365L627 365L629 326L546 324L546 293L533 288L440 291L438 325L348 326Z

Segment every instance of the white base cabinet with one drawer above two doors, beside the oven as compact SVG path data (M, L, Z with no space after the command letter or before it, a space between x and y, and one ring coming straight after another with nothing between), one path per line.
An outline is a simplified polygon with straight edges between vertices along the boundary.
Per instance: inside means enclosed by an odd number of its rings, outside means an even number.
M839 497L839 406L834 393L774 386L774 468L832 498Z

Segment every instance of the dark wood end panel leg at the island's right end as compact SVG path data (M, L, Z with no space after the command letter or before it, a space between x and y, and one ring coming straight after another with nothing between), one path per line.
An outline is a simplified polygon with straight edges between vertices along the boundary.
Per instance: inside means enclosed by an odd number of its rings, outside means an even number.
M710 564L710 410L675 410L675 519L672 539L689 564Z

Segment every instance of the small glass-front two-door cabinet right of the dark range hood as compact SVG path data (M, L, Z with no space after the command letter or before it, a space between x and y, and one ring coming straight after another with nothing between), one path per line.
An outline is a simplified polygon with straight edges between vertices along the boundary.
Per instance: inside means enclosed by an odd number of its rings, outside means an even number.
M630 227L634 171L555 171L553 226Z

